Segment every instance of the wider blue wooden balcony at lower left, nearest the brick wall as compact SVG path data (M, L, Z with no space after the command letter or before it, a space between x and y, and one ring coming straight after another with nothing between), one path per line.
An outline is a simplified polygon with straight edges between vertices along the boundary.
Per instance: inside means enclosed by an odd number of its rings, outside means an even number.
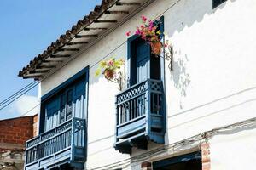
M84 169L85 120L73 117L26 142L25 170L69 167ZM67 168L68 169L68 168Z

